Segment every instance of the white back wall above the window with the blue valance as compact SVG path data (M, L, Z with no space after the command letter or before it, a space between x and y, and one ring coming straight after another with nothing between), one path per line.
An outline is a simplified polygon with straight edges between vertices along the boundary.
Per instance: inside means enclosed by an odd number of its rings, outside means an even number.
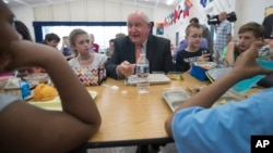
M32 36L34 28L32 23L38 22L126 22L127 15L134 10L144 11L155 24L163 22L164 14L170 12L163 8L145 8L105 0L76 0L52 5L36 8L11 8L17 20L24 22ZM23 12L23 13L22 13ZM155 31L155 29L153 29ZM155 33L154 33L155 34Z

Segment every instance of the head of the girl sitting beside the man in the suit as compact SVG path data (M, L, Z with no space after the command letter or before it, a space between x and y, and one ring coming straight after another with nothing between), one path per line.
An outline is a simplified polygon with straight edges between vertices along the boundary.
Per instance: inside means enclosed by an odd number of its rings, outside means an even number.
M79 53L90 53L90 37L88 34L80 28L73 29L69 35L70 47L75 51L75 54Z

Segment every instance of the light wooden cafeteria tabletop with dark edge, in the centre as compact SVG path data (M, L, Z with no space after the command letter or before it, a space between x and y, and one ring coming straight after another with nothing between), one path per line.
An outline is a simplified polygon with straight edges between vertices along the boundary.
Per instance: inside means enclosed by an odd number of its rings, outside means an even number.
M119 90L98 86L88 87L97 91L95 103L102 115L98 132L88 141L92 146L114 146L171 141L164 123L171 111L162 92L168 88L192 88L209 85L190 75L183 80L171 80L166 85L151 85L147 94L139 94L135 86L126 86L124 80L107 78L103 84L118 86Z

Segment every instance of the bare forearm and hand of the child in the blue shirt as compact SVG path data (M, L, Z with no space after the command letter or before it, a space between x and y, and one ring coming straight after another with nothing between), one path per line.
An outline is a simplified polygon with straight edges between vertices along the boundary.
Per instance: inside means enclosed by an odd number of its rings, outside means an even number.
M192 98L187 100L177 109L176 112L187 109L187 107L191 107L191 106L211 107L211 105L237 81L241 79L250 78L258 74L265 75L265 74L273 73L272 71L260 67L256 62L257 54L258 54L257 53L258 47L261 47L261 44L263 43L262 42L253 43L249 50L247 50L239 56L233 69L227 75L223 76L217 81L206 87L205 90L201 90L200 92L194 94ZM167 133L169 135L169 137L173 137L171 120L173 120L174 114L171 114L171 116L169 116L165 123L165 129Z

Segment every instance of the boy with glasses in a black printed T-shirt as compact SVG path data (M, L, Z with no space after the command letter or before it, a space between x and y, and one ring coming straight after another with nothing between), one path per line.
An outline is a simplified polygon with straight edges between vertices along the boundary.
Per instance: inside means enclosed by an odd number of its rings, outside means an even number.
M212 61L207 49L199 48L202 39L203 29L199 24L190 24L186 28L186 39L188 47L179 51L176 59L176 71L187 72L193 62Z

